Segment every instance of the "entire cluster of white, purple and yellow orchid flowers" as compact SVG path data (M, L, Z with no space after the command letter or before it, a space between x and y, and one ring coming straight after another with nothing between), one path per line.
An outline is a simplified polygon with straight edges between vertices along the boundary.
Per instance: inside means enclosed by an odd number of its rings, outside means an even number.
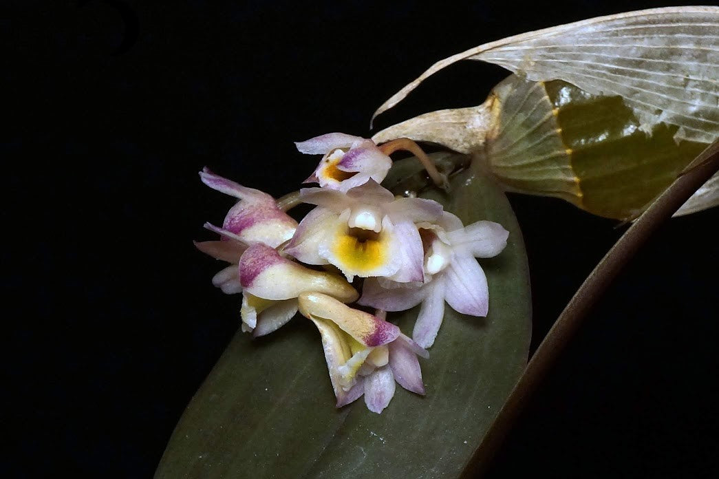
M297 311L313 321L337 407L364 395L380 413L395 382L424 395L418 356L429 357L445 301L459 313L487 315L487 279L475 258L498 255L508 232L487 221L464 227L436 201L395 198L380 186L392 165L388 144L330 133L296 145L323 155L305 181L319 187L300 191L315 208L299 224L267 193L201 171L207 186L239 199L222 227L206 224L220 239L196 243L229 263L212 282L242 293L242 330L255 337ZM412 337L385 319L386 311L418 304Z

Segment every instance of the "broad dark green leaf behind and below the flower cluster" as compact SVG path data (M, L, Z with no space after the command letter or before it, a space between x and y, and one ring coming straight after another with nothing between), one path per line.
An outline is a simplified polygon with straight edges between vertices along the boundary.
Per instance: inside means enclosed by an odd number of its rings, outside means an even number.
M405 160L405 161L411 161ZM401 162L398 162L401 163ZM503 193L465 170L452 197L427 193L467 222L510 231L482 260L490 314L446 308L429 360L425 397L398 386L383 414L359 399L334 408L319 333L296 317L262 339L238 332L188 405L156 478L377 478L457 476L521 374L531 301L521 232ZM390 316L410 332L417 309Z

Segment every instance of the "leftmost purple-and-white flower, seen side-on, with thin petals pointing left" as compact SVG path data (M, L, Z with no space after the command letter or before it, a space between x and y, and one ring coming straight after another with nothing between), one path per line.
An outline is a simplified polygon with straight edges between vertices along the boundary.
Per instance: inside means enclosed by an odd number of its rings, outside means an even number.
M279 209L275 199L267 193L229 181L212 173L208 168L200 172L200 178L210 188L239 199L226 214L222 228L205 225L218 233L221 240L196 242L195 246L216 260L230 263L214 275L212 283L221 288L223 293L241 293L237 263L247 246L261 242L270 247L278 247L292 237L297 222Z

